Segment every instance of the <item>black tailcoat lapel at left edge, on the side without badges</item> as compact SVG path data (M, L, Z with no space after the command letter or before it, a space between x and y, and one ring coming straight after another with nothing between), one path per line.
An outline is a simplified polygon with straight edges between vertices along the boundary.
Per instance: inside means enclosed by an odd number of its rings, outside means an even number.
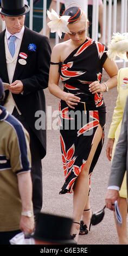
M1 67L1 74L3 77L3 82L5 81L9 83L6 57L5 57L4 35L5 35L5 30L0 33L0 49L1 49L0 67Z

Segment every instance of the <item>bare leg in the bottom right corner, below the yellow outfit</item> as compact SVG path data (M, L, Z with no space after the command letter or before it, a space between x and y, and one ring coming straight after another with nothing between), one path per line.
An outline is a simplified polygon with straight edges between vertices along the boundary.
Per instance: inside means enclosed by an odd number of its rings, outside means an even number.
M120 197L118 201L119 211L122 217L121 227L117 225L116 215L114 213L114 219L116 222L117 234L119 239L119 245L127 245L127 200L124 197Z

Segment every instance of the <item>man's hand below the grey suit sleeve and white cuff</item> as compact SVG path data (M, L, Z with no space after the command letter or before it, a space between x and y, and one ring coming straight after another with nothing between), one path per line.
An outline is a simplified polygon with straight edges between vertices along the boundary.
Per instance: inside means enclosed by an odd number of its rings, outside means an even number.
M106 208L114 211L114 202L119 198L118 190L107 190L105 196Z

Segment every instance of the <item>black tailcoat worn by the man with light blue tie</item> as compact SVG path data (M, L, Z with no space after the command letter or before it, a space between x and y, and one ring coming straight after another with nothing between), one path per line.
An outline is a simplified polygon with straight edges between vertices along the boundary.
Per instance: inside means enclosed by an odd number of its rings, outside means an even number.
M3 82L9 83L4 46L5 31L0 33L0 77ZM29 51L29 44L36 45L36 51ZM43 89L48 87L48 75L51 49L46 36L40 35L25 27L20 52L28 55L26 65L21 65L18 59L12 82L21 80L23 83L23 95L12 94L18 109L34 131L41 144L41 158L46 155L46 130L35 129L35 112L46 111L46 103ZM20 53L19 52L19 53ZM5 100L9 90L5 91Z

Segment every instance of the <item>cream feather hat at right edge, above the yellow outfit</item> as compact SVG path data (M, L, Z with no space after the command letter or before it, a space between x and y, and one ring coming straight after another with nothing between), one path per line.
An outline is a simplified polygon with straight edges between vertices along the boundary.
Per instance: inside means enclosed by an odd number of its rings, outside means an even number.
M116 56L127 60L128 52L128 33L113 33L112 40L108 45L107 56L114 60Z

